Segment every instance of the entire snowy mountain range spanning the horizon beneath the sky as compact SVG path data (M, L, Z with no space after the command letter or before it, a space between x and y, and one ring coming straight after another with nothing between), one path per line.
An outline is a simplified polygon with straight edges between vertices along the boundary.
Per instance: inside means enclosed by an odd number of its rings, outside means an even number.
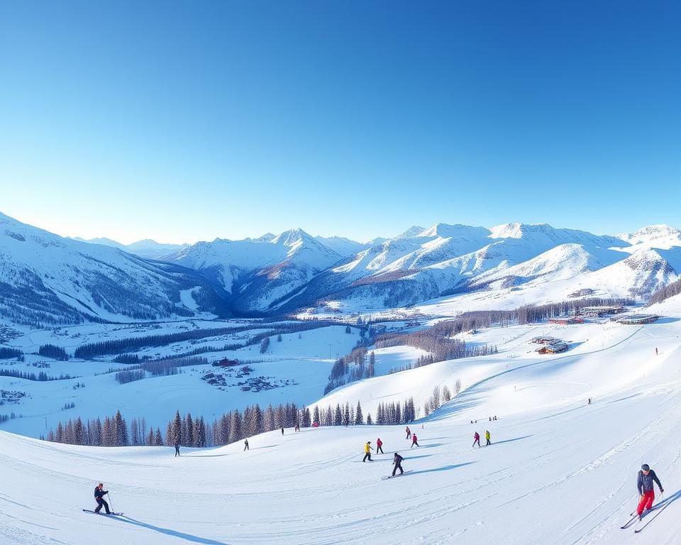
M646 297L680 275L681 231L666 225L602 236L548 224L436 224L370 243L292 229L123 246L0 214L0 315L31 324L382 309L537 287L556 287L555 299L573 287Z

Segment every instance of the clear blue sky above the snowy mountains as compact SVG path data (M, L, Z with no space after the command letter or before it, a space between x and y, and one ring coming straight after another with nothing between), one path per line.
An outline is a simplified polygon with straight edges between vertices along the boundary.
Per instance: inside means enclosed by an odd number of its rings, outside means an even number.
M123 242L681 227L678 1L0 3L0 211Z

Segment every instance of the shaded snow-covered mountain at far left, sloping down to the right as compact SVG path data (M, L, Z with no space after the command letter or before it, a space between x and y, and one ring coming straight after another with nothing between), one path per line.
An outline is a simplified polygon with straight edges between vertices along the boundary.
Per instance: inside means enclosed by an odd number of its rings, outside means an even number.
M0 214L0 315L28 324L224 314L193 270L62 238Z

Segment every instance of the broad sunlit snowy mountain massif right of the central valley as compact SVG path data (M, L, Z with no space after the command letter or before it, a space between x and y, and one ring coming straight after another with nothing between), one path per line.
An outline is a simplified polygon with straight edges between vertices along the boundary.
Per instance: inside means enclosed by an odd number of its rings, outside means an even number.
M629 246L614 236L548 224L411 228L317 275L287 307L320 300L402 307L458 292L550 282L624 260L628 253L610 248Z

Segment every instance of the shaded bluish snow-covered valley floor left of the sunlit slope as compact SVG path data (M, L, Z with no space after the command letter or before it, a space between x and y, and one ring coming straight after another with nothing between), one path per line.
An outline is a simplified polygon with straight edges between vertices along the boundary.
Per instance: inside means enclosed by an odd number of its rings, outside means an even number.
M202 328L228 327L243 325L240 321L208 322ZM187 326L185 326L186 328ZM37 331L14 338L11 346L26 351L37 350L42 343L54 343L64 346L69 351L83 342L98 339L109 340L143 334L165 334L181 330L179 323L162 324L156 329L149 326L128 328L116 326L74 326L51 330ZM187 351L203 345L223 346L226 343L238 342L248 338L262 329L251 329L238 334L228 334L219 338L210 337L201 341L174 343L170 346L147 348L139 351L140 355L166 356L178 351ZM65 334L67 333L67 334ZM79 335L74 338L74 335ZM260 353L259 346L247 346L232 351L216 351L206 356L209 362L221 358L235 358L248 365L252 371L243 378L236 378L235 372L216 369L211 363L206 365L190 365L180 368L177 375L151 377L143 380L119 384L114 373L106 373L111 368L126 370L126 365L112 363L111 357L102 361L56 361L50 358L27 354L26 362L0 360L0 370L16 370L24 373L43 371L50 376L60 374L71 375L69 380L52 380L38 382L0 376L0 389L26 392L18 404L6 404L0 407L0 414L21 414L21 417L0 424L0 429L38 437L46 436L50 429L56 429L57 422L82 417L90 419L104 418L120 409L125 417L145 417L149 425L164 426L173 417L175 411L191 412L195 416L202 415L207 422L232 409L243 409L246 405L295 402L299 405L309 404L321 397L328 380L328 373L333 360L350 352L358 341L358 331L352 329L345 333L345 326L328 326L300 334L283 334L282 341L272 336L270 348ZM406 348L408 350L408 348ZM416 356L418 357L418 356ZM416 359L416 357L414 359ZM49 368L35 367L33 363L49 363ZM104 373L104 374L102 374ZM226 385L211 385L202 377L206 373L223 373ZM243 390L247 384L240 382L249 378L265 378L272 389ZM77 387L84 384L84 387ZM74 403L72 409L63 409L65 404Z

